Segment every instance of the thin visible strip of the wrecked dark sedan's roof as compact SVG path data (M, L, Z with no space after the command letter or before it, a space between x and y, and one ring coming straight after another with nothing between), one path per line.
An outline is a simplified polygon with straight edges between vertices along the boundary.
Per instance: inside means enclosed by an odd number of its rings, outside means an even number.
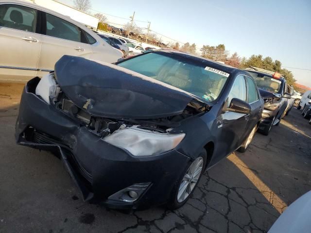
M196 63L201 63L201 64L203 63L206 66L211 66L211 67L213 67L215 69L219 69L219 70L222 70L222 71L225 71L225 72L228 72L228 73L232 73L235 70L240 70L240 69L238 69L236 67L231 67L231 66L228 66L228 65L225 65L225 64L221 64L221 63L215 62L213 60L210 60L210 59L207 59L207 58L204 58L204 57L196 56L196 55L193 55L193 54L190 54L190 53L186 53L186 52L182 52L182 51L179 51L179 50L162 49L162 50L155 50L155 51L152 51L152 52L168 53L168 54L177 55L177 56L180 56L180 57L184 57L186 59L190 59L190 60L192 60L192 61L194 61ZM241 71L243 71L243 70L241 70Z

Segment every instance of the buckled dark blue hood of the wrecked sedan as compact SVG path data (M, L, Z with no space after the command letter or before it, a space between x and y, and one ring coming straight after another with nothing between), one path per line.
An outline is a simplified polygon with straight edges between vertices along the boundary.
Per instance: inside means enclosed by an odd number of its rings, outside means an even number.
M90 115L151 119L181 114L195 98L166 83L123 67L65 55L55 78L69 100Z

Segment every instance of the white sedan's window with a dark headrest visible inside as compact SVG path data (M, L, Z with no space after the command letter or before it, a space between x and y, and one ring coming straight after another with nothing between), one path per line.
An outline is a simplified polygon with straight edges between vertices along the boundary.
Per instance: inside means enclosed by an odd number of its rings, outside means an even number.
M33 8L0 5L0 26L35 33L37 11Z

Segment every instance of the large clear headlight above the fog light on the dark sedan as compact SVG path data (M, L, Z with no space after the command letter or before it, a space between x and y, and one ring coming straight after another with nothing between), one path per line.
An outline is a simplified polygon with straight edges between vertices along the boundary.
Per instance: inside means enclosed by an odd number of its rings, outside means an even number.
M185 135L185 133L158 133L130 127L117 130L104 137L103 140L129 151L134 156L152 156L173 150L183 140Z

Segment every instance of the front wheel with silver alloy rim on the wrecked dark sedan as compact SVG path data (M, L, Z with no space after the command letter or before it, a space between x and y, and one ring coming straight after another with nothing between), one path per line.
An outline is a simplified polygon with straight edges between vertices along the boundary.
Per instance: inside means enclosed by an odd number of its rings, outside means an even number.
M207 152L202 149L199 156L191 161L182 177L175 184L167 207L171 210L182 207L192 195L204 173L207 162Z

